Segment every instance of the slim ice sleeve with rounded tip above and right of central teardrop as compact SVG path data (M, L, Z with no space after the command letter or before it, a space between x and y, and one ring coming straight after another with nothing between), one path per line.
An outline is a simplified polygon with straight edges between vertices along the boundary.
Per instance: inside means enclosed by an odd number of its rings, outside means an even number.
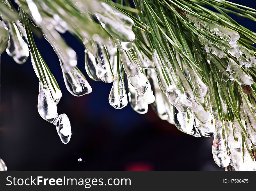
M120 58L122 65L124 66L125 73L130 77L135 76L139 71L138 65L134 62L129 53L122 48L119 40L116 41L116 45L120 52Z

